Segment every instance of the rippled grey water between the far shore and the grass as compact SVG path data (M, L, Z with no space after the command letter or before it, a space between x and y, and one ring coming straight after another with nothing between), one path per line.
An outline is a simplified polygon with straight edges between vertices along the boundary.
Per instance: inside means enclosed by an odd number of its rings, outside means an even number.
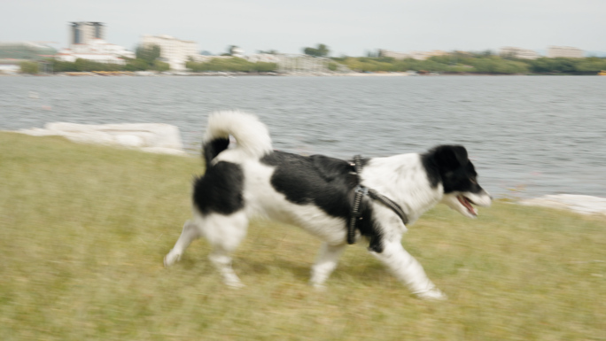
M258 114L284 151L350 158L462 143L498 197L606 197L606 77L0 77L4 130L163 122L193 149L208 113L224 109Z

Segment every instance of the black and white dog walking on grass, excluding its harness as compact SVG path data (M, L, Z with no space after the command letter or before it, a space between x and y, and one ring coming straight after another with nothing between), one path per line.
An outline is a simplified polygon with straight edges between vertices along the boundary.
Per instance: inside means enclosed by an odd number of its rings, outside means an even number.
M229 146L229 136L237 143ZM346 247L347 224L357 182L400 205L412 223L439 202L474 218L471 205L488 206L491 197L477 182L462 146L442 145L424 154L363 159L360 174L345 160L273 151L268 129L244 112L217 112L208 120L203 143L206 173L193 184L193 218L164 259L175 264L200 236L214 249L209 258L230 286L241 286L231 256L253 216L307 229L324 242L311 283L322 287ZM407 230L387 206L364 197L356 239L369 241L381 260L420 298L445 298L423 267L401 244Z

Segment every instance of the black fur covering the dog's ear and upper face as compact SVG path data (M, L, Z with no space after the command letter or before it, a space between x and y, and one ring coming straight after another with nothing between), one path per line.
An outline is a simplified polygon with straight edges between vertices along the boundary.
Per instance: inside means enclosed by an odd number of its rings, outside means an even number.
M421 160L431 187L441 183L444 193L482 191L476 169L462 145L440 145L424 153Z

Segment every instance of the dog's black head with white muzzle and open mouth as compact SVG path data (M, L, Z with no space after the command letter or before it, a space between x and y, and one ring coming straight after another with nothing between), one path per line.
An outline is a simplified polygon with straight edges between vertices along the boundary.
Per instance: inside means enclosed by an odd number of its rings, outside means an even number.
M473 205L489 206L492 198L478 184L478 174L461 145L440 145L424 155L431 165L432 184L441 182L444 188L442 203L470 218L478 211ZM436 176L438 175L438 176Z

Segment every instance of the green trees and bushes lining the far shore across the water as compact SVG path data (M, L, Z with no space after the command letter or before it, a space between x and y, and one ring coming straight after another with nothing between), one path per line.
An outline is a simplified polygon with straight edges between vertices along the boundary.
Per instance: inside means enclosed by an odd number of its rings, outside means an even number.
M269 73L276 72L276 63L250 62L244 58L229 56L237 48L231 45L223 58L212 58L205 62L190 60L186 67L192 72L243 72ZM317 44L315 48L302 49L312 57L328 57L330 50L325 44ZM276 50L265 53L277 54ZM54 72L85 72L85 71L168 71L168 63L164 62L158 45L139 46L136 58L125 58L126 64L100 63L88 59L77 59L74 62L51 60ZM426 72L440 74L597 74L606 70L606 58L537 58L521 59L512 56L498 56L491 51L464 52L454 51L443 56L433 56L425 60L414 58L395 59L380 57L369 53L369 57L338 57L331 58L331 69L336 69L339 63L355 72ZM22 72L35 74L37 67L31 63L21 66Z

